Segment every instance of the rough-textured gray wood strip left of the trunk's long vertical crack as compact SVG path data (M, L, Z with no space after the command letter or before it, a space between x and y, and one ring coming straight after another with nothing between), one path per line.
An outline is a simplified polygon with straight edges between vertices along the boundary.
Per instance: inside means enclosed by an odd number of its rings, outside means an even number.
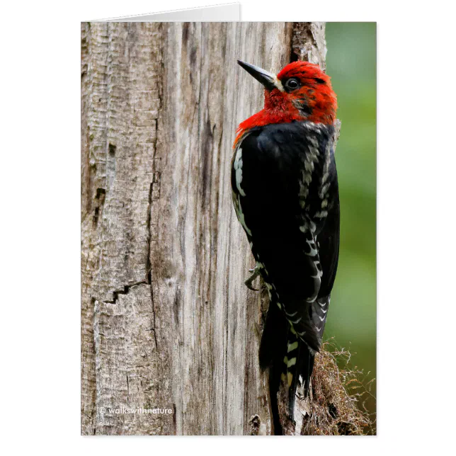
M102 407L168 405L147 271L161 25L82 33L82 433L160 433L159 420Z

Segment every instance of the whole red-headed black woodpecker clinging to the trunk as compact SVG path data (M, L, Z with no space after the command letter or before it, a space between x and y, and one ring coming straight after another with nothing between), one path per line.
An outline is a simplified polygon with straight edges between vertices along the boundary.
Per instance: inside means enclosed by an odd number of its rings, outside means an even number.
M264 86L264 108L238 127L232 197L270 304L259 362L269 368L275 433L280 380L293 420L298 386L309 395L336 277L340 210L334 122L336 94L316 64L292 62L277 75L238 60ZM253 289L254 290L254 289Z

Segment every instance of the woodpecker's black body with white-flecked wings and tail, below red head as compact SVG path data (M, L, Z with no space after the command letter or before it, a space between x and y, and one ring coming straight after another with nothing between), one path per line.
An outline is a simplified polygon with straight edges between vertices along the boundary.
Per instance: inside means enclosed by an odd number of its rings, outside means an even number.
M312 122L253 127L232 161L236 215L270 293L260 364L270 367L273 403L285 375L291 416L298 382L309 391L338 263L333 136Z

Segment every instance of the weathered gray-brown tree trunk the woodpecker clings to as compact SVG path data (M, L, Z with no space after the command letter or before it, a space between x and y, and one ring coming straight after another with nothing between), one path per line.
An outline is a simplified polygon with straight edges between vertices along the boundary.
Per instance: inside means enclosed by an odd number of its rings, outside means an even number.
M236 127L263 91L236 59L324 67L324 24L81 35L81 432L270 434L267 303L244 285L254 261L230 188Z

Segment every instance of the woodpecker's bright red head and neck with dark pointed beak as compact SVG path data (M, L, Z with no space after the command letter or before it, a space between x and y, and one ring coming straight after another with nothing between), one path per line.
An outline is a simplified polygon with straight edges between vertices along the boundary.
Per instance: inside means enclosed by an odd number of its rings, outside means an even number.
M318 65L292 62L277 75L238 60L239 65L265 86L264 108L239 125L238 139L252 127L293 120L333 125L337 99L331 78Z

